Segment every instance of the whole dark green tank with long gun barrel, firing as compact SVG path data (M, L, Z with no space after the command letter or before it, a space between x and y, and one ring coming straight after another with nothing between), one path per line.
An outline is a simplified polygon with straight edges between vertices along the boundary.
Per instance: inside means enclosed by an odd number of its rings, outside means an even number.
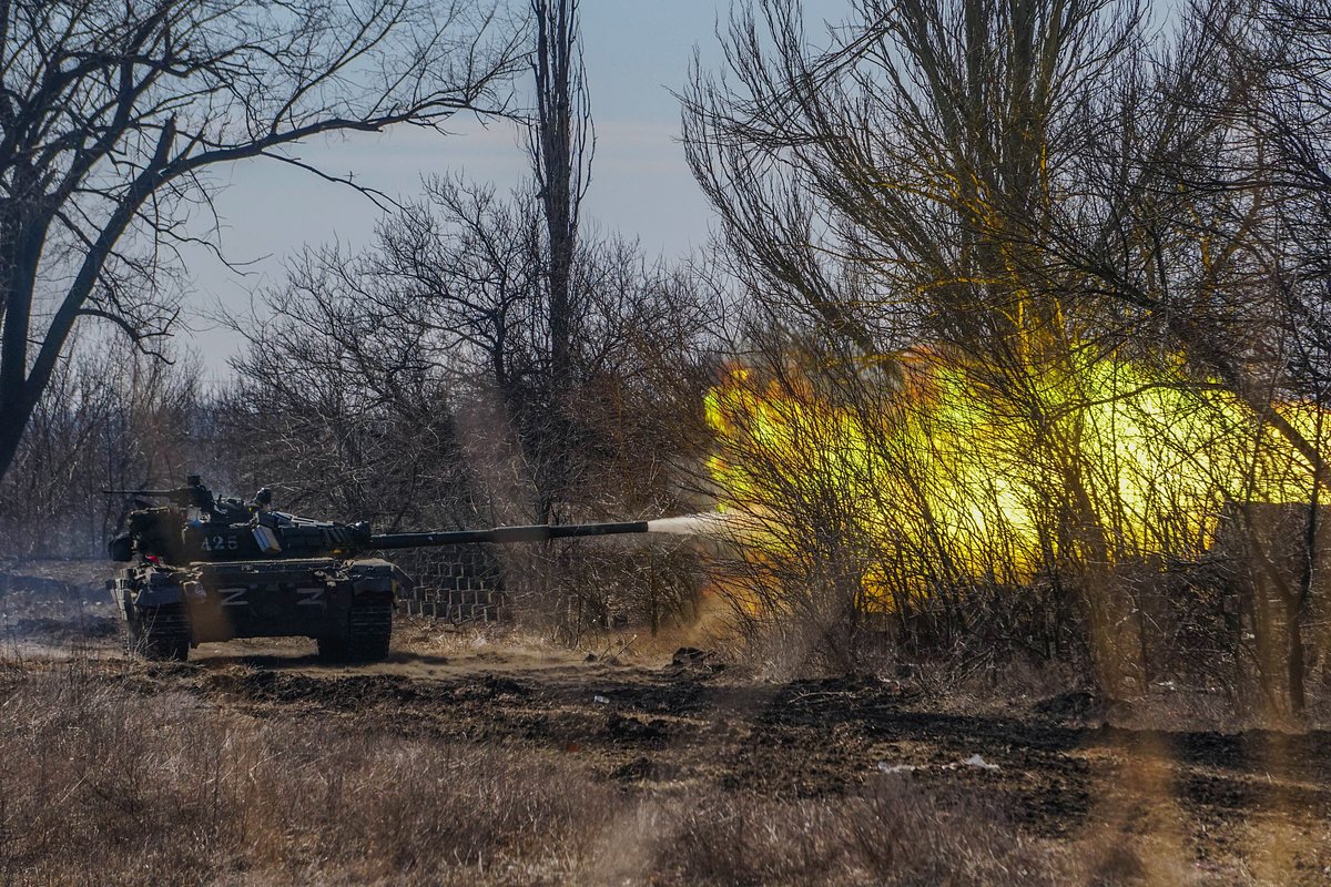
M411 580L377 552L647 532L630 521L374 533L274 511L268 488L249 501L217 497L197 475L178 489L105 492L132 501L126 532L108 545L129 567L108 589L129 652L149 660L185 660L209 641L310 637L325 661L379 661Z

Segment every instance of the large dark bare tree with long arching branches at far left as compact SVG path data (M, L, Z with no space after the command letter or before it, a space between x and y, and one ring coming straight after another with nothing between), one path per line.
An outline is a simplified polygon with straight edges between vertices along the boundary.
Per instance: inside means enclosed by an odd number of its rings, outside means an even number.
M512 31L484 0L0 3L0 473L80 318L136 342L221 164L502 106Z

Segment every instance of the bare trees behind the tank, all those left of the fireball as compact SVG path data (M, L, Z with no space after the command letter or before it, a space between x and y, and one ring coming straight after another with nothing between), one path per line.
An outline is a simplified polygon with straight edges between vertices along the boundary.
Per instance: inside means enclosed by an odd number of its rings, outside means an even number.
M576 0L325 7L4 7L8 94L32 130L5 130L16 146L0 209L15 227L0 242L20 249L28 219L43 241L27 265L3 266L12 553L96 552L122 519L96 491L194 471L386 531L679 509L671 463L696 442L677 402L700 400L713 309L685 270L584 233L594 130ZM77 102L88 108L72 118ZM371 245L293 259L262 317L236 326L245 344L225 383L170 366L173 275L188 270L177 250L209 211L208 169L248 157L306 168L290 146L313 136L439 128L462 110L524 128L528 181L502 194L435 177L405 205L357 186L391 209ZM35 164L47 166L28 188ZM104 255L80 249L98 238ZM60 289L75 253L96 262L91 282ZM124 335L87 328L73 346L75 318ZM515 572L575 614L576 634L610 618L614 574L651 573L650 601L696 590L688 570L658 576L679 560L660 548L614 565L546 547Z

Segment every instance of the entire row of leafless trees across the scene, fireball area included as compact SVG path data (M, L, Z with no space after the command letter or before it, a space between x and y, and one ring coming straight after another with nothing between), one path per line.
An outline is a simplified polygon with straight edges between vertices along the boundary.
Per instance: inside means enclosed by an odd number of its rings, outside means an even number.
M201 464L193 447L220 479L385 528L720 501L765 524L708 557L755 649L837 669L1021 656L1115 694L1187 674L1302 707L1331 484L1320 4L852 0L815 35L795 0L737 3L723 70L680 90L717 238L676 262L582 218L575 1L378 0L331 29L319 4L280 9L282 28L252 4L4 4L8 513L20 491L59 497L79 435L136 448L104 473ZM371 68L394 72L378 92ZM515 113L515 72L530 182L434 178L365 249L307 249L222 388L100 346L65 360L77 318L152 347L213 165ZM197 406L158 415L121 382L140 371ZM982 461L1012 472L960 465L948 442L981 426L1000 442ZM1246 503L1300 509L1291 528ZM1222 519L1243 557L1217 556ZM614 559L575 576L540 557L560 606L606 616L580 596ZM696 602L693 561L668 557ZM658 582L648 561L620 557L620 586Z

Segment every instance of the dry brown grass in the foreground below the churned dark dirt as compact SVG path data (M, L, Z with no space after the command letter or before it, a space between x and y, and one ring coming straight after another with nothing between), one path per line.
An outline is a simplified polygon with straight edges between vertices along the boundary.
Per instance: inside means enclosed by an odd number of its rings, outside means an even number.
M574 755L258 718L118 668L0 665L0 884L1054 884L1097 867L957 789L647 793ZM1131 882L1131 859L1107 864L1126 878L1105 883Z

